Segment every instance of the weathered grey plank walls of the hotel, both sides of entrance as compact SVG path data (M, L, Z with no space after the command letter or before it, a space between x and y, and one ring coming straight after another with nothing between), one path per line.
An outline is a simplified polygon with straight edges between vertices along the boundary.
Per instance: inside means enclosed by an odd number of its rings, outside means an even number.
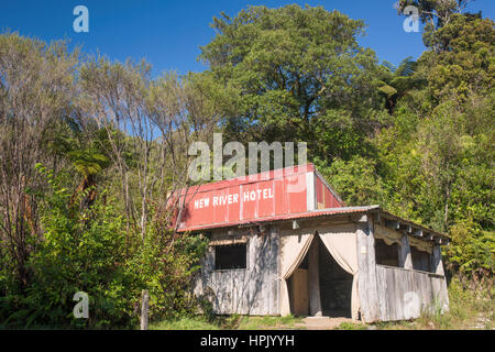
M380 265L375 257L375 219L361 216L336 221L307 220L302 226L319 233L355 232L356 242L350 245L356 246L356 286L362 321L409 320L418 318L425 310L448 310L447 280L439 245L433 246L431 266L427 268L432 273L414 270L408 234L402 232L398 264L406 267ZM211 244L241 240L246 243L246 268L215 270L215 245L211 245L204 258L195 294L206 296L212 302L213 312L219 315L279 315L280 235L297 235L297 231L292 230L290 223L279 228L271 226L264 234L255 234L249 228L235 229L233 234L227 229L215 230ZM308 273L308 276L311 275Z

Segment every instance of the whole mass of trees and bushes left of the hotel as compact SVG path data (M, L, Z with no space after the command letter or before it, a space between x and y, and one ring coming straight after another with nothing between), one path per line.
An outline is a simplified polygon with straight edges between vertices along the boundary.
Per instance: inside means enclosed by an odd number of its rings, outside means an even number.
M148 67L0 35L2 326L80 326L78 290L91 327L132 326L143 287L152 315L196 310L206 243L174 232L166 198L186 184L187 143L216 124L218 96L193 75L151 82Z

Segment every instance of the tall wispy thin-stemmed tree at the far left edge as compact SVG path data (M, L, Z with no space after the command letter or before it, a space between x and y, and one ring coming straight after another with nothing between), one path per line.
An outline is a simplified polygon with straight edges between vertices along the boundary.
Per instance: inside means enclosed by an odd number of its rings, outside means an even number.
M72 109L76 63L77 52L68 53L64 42L0 35L0 246L21 290L30 277L25 263L42 235L33 191L43 183L34 166L52 164L45 142Z

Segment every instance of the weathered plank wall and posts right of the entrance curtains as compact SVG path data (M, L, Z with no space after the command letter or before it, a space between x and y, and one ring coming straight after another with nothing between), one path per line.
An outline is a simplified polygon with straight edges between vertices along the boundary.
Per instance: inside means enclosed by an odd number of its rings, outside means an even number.
M363 222L358 230L362 319L365 322L407 320L418 318L421 311L448 310L447 282L442 275L439 246L433 248L433 273L413 270L409 241L405 234L399 246L399 265L404 267L376 265L373 234L374 220L369 218L367 223Z

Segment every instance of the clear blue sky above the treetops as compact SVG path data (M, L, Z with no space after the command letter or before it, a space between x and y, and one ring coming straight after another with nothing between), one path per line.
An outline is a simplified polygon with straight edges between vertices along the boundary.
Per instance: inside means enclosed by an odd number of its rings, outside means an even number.
M86 53L99 51L119 61L144 57L153 65L155 75L170 69L186 74L206 68L197 57L199 46L215 36L209 26L213 15L224 11L233 16L250 4L277 8L287 3L307 3L337 9L352 19L364 20L367 29L366 36L360 38L361 45L374 50L380 61L396 65L407 56L419 57L425 47L421 32L403 30L405 18L397 15L395 1L2 0L0 30L10 29L47 42L69 38L72 45L81 45ZM89 10L89 33L73 30L76 18L73 10L78 4ZM483 16L493 19L495 1L476 0L469 10L482 10Z

